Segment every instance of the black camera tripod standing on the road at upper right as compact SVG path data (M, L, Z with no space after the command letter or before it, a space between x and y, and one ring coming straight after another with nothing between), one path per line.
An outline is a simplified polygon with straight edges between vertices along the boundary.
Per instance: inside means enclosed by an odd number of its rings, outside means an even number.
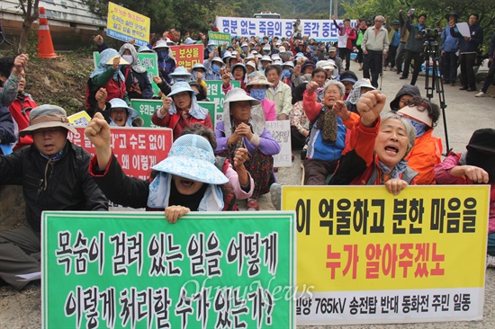
M429 29L425 29L429 30ZM437 34L437 29L431 30ZM428 32L428 31L427 31ZM447 133L447 120L446 120L446 94L444 93L444 82L442 81L442 76L439 75L440 67L440 51L438 50L438 42L434 37L429 36L425 43L423 44L423 54L425 54L426 64L426 79L425 79L425 89L427 90L427 98L429 101L433 98L435 90L437 90L438 101L440 102L440 108L442 109L442 117L444 118L444 131L446 133L446 153L447 156L451 148L448 144L448 133ZM430 64L430 60L431 63ZM431 68L431 73L430 73Z

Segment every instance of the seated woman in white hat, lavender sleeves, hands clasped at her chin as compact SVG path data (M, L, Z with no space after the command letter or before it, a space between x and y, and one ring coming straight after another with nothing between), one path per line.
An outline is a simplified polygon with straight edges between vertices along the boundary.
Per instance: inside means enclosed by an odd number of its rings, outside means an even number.
M244 165L255 181L255 190L247 200L247 210L258 210L258 197L270 191L275 182L273 156L280 152L277 141L265 128L265 115L256 106L259 104L244 90L233 88L223 103L223 121L215 129L219 156L226 156L233 163L238 148L247 148L249 152L250 158Z

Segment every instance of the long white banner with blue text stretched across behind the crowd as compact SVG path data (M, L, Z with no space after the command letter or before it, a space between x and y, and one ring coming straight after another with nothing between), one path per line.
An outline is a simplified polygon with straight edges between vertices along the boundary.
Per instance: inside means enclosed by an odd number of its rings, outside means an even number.
M231 36L274 36L278 38L290 38L293 36L293 22L295 20L272 18L247 18L247 17L217 17L216 26L220 32L229 33ZM336 20L342 25L342 20ZM329 20L301 20L302 35L314 40L338 40L338 27ZM357 21L351 20L351 26L356 28Z

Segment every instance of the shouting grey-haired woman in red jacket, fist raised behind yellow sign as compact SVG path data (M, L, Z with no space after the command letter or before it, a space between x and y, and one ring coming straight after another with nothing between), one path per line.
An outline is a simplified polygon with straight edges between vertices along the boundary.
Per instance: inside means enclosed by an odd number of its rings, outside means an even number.
M356 113L338 102L333 111L349 129L346 149L331 185L382 185L397 195L415 184L418 173L410 169L405 157L414 146L416 131L410 121L394 112L380 117L386 97L378 91L365 93L357 102Z

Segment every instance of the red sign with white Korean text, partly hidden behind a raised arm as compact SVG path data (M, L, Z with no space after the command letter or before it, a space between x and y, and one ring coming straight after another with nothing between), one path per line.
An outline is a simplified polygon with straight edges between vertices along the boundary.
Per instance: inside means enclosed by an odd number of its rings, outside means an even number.
M94 146L85 137L85 129L76 127L77 134L68 133L67 138L94 155ZM124 173L148 179L151 167L168 156L172 147L172 129L112 127L110 147L121 164Z

